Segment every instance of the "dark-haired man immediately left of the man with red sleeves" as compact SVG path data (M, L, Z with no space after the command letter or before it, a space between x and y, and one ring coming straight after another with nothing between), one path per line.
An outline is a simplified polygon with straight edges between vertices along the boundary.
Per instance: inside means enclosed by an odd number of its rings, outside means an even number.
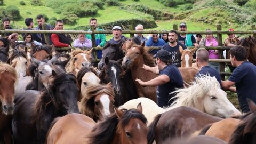
M38 26L36 26L35 30L42 30L43 29L42 26L45 23L44 16L42 14L37 15L36 21L38 23ZM46 24L46 30L53 30L53 29L54 29L54 27L52 27L50 24ZM40 43L46 44L44 34L37 34L37 36L41 39L41 41L39 41ZM49 44L52 44L51 34L47 34L47 36L49 37L49 40L50 40Z

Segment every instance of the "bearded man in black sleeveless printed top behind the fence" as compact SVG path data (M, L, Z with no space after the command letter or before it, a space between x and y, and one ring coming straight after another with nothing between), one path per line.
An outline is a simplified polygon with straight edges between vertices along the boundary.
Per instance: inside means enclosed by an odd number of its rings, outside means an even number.
M170 54L172 63L176 67L181 67L181 50L187 49L187 47L177 42L178 33L175 30L171 30L168 33L169 43L165 44L162 49L167 50Z

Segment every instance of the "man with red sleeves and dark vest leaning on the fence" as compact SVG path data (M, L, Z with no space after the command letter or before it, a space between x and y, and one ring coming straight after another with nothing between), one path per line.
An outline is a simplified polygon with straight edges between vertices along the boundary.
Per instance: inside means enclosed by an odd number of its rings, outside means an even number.
M63 30L63 21L57 20L55 23L55 29L54 30ZM70 47L71 43L69 42L69 38L65 34L52 34L51 40L54 47Z

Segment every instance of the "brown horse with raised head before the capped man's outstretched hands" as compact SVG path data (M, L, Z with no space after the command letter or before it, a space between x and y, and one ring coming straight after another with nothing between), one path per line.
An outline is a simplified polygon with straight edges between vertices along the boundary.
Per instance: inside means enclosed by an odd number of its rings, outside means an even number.
M158 75L151 73L143 69L143 64L150 67L155 67L155 59L153 56L148 54L148 51L144 49L145 42L141 45L133 45L130 49L127 49L127 53L122 61L122 66L131 69L133 83L137 89L139 97L146 97L156 102L156 86L154 87L143 87L135 81L136 78L141 81L149 81Z

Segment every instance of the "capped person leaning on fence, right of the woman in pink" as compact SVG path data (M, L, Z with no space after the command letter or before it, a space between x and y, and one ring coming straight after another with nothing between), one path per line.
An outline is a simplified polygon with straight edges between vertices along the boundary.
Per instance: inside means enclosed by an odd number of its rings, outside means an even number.
M228 29L228 31L234 31L233 28ZM225 46L237 46L237 43L239 42L241 38L236 36L235 34L228 34L228 37L224 39L224 45ZM226 50L226 59L230 59L230 55L228 54L229 50ZM228 64L228 67L231 72L234 71L235 67L233 67L231 64Z

